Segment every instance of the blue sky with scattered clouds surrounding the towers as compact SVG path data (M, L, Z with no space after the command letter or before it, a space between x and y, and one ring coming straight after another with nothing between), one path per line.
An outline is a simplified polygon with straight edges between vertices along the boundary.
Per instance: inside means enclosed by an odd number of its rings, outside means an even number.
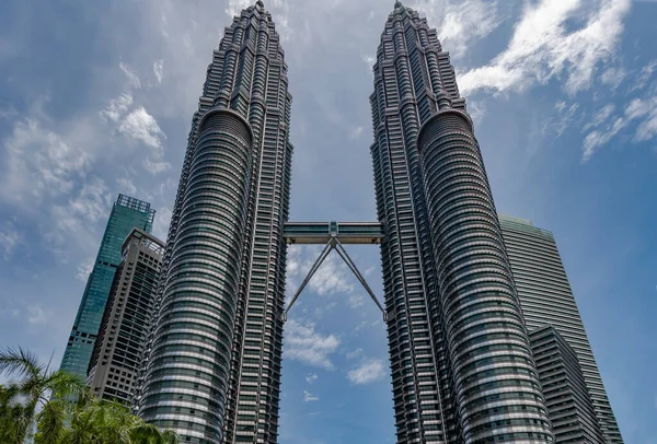
M373 220L370 66L393 1L269 0L293 96L292 220ZM0 7L0 344L59 362L108 209L164 236L230 0ZM657 443L656 1L413 0L497 208L554 232L627 443ZM373 247L349 248L381 295ZM314 259L290 250L289 290ZM333 257L286 326L280 442L393 442L384 326Z

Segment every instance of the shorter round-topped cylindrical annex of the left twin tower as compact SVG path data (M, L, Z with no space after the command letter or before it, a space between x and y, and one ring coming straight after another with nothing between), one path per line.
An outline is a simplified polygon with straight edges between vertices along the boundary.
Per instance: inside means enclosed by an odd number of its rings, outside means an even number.
M199 130L165 278L141 414L181 434L219 440L238 305L252 141L247 122L224 109L208 112ZM199 414L162 407L181 397Z

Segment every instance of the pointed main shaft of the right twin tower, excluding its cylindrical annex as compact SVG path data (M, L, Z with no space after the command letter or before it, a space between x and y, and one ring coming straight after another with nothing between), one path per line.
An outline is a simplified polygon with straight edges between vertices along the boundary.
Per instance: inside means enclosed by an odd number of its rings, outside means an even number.
M433 81L440 79L436 47L435 30L397 2L381 36L370 96L374 131L370 152L377 212L385 235L381 261L399 443L442 443L447 433L439 379L448 375L449 366L441 359L443 344L430 328L426 294L433 291L433 266L415 144L422 120L436 110L431 93ZM434 49L430 70L428 48ZM441 66L449 71L449 65Z

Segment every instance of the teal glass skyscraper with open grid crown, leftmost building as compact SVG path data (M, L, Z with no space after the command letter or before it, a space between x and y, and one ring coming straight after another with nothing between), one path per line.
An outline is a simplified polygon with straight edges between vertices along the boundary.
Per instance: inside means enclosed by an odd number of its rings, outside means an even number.
M120 264L122 246L134 227L150 233L155 211L150 203L119 195L103 234L103 241L89 274L78 315L61 360L61 370L87 379L87 370L110 295L112 281Z

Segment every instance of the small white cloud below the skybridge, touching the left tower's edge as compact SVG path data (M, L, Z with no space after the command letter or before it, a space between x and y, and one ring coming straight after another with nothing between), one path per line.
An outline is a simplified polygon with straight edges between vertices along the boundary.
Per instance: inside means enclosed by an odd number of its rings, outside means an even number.
M323 336L314 330L314 324L300 324L296 320L286 323L284 353L286 358L307 365L333 370L330 355L339 346L334 335Z

